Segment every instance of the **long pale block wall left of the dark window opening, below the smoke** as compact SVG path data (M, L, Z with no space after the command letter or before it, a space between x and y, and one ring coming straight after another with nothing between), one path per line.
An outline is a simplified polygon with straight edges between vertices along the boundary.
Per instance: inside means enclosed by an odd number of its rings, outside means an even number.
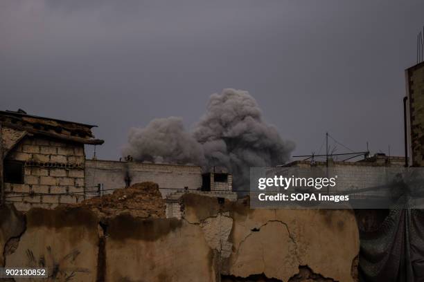
M96 189L95 186L102 183L105 194L113 193L113 189L125 187L127 175L132 184L145 181L157 183L164 197L175 192L175 189L188 187L193 190L202 187L201 167L112 160L86 160L85 162L86 187Z

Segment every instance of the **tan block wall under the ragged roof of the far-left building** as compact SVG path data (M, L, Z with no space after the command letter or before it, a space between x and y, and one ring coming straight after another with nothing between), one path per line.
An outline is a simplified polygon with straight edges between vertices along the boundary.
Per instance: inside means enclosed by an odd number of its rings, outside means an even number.
M78 203L84 197L83 144L28 137L12 149L6 160L24 164L24 184L5 183L6 201L21 211Z

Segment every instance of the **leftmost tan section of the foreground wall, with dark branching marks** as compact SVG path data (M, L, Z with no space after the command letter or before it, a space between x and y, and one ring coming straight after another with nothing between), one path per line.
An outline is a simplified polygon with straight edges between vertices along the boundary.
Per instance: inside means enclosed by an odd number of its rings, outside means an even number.
M48 267L50 281L96 281L98 243L98 218L89 210L35 208L5 266Z

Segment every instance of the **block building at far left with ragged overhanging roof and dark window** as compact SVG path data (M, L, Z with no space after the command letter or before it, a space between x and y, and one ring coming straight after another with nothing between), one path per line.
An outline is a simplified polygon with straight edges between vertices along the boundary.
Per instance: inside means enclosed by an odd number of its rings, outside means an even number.
M85 197L85 144L94 125L0 111L2 203L19 210L53 208Z

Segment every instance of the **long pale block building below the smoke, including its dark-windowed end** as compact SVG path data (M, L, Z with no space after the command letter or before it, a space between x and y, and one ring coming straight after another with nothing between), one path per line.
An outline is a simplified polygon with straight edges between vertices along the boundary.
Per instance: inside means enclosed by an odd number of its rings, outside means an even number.
M85 185L94 187L87 193L90 197L112 194L117 188L133 183L154 182L165 198L166 217L181 217L181 198L188 192L237 200L232 188L233 177L226 171L203 173L199 166L135 162L131 158L86 160L85 164Z

